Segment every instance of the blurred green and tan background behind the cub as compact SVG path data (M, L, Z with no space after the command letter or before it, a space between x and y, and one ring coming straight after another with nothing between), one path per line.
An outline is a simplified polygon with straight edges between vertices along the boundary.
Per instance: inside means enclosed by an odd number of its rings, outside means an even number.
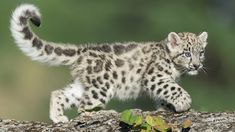
M160 41L171 31L207 31L207 73L185 76L181 85L201 111L235 110L235 1L233 0L1 0L0 117L48 122L50 92L70 81L67 67L33 62L14 43L9 20L21 3L42 13L35 33L48 41L103 43ZM112 100L107 109L154 110L148 97Z

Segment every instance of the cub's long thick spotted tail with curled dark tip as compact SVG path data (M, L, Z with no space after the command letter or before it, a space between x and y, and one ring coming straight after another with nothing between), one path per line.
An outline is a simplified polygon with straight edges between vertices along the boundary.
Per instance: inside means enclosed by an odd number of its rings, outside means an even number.
M18 47L33 60L50 65L71 65L77 59L80 49L74 45L55 44L41 40L28 24L30 20L40 26L40 13L37 7L30 4L18 6L12 14L11 33Z

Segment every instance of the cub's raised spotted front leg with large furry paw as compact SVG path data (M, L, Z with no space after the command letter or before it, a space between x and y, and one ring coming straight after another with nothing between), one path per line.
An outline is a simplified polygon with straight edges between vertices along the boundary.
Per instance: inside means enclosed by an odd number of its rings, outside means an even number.
M175 112L190 109L192 103L190 95L172 79L145 80L145 90L150 96L158 100L158 106L167 107Z

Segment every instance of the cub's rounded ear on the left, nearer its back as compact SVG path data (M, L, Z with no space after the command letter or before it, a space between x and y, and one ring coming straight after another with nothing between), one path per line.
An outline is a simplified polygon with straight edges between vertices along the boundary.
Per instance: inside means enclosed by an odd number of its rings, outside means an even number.
M177 49L178 45L181 43L181 39L175 32L170 32L167 37L167 47L170 51Z

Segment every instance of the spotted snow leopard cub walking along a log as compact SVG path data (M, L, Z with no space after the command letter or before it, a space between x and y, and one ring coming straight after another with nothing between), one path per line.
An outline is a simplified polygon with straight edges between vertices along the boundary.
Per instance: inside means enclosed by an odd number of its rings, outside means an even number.
M190 95L176 80L181 74L196 75L202 69L206 32L171 32L160 42L65 45L40 39L28 20L40 25L34 5L20 5L12 14L10 29L17 46L32 60L71 69L73 82L51 94L53 122L67 122L63 111L70 107L91 110L104 107L113 97L137 98L141 92L175 112L190 108Z

